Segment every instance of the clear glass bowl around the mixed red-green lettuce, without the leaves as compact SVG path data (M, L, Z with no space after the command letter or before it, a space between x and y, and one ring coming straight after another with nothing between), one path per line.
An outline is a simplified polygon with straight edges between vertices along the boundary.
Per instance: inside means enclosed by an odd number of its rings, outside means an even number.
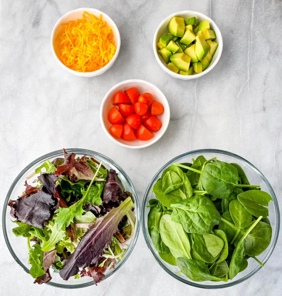
M116 170L116 172L119 174L119 178L124 184L125 190L131 192L134 199L134 205L135 205L134 211L136 216L136 225L135 225L134 235L129 240L129 246L127 247L127 250L124 253L124 257L115 264L114 269L109 270L108 268L106 270L105 278L103 279L105 280L109 278L112 274L114 274L124 264L124 262L127 260L127 258L131 254L136 244L137 237L140 230L140 205L139 205L138 195L132 182L130 181L129 177L124 172L124 170L110 158L98 152L94 152L86 149L66 149L66 151L68 153L74 152L77 156L80 156L80 157L86 154L86 156L94 157L98 161L102 160L103 165L107 169L112 168ZM34 160L32 163L30 163L26 168L24 168L12 183L4 202L3 213L2 213L2 225L3 225L4 238L10 253L14 257L16 262L20 266L22 266L22 268L27 273L29 273L30 265L28 264L28 250L27 250L26 238L16 237L13 234L12 228L16 227L17 225L11 222L11 220L14 220L14 219L10 215L10 207L8 207L7 204L10 199L15 200L25 190L24 184L25 184L26 176L33 173L35 168L38 168L42 163L45 162L46 159L52 161L57 157L64 157L63 150L58 150L58 151L54 151L46 155L43 155L38 159ZM34 177L34 179L36 179L36 177ZM64 281L58 273L53 272L52 268L50 268L50 273L51 273L52 279L47 284L54 287L82 288L82 287L88 287L94 284L93 279L88 276L84 276L80 279L74 279L74 277L72 276L68 281ZM31 282L33 281L31 276L30 276L30 281Z

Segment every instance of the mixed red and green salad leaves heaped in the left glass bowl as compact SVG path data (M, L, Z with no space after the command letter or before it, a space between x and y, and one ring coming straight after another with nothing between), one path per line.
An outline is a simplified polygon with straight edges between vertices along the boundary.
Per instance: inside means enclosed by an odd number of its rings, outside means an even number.
M25 192L8 204L18 225L13 233L27 238L34 283L50 281L52 267L64 280L92 276L97 284L134 234L132 194L115 170L65 150L64 158L46 160L31 176L38 173L37 185L26 181Z

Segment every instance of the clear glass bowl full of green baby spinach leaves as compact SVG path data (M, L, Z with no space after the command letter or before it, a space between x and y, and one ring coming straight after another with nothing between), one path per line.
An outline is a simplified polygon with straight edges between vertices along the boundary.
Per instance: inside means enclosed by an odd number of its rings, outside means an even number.
M142 229L153 257L195 287L230 287L270 257L278 202L265 176L231 152L201 149L166 163L150 182Z

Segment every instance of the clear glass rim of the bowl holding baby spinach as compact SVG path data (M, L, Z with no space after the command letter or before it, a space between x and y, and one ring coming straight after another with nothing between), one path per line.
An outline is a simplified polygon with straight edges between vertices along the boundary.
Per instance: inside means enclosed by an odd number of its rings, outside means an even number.
M274 247L277 243L277 239L278 239L278 235L279 235L279 228L280 228L280 214L279 214L279 206L278 206L278 201L276 199L275 193L272 189L272 186L270 185L270 183L268 182L268 180L265 178L265 176L260 172L260 170L258 170L252 163L250 163L248 160L244 159L243 157L234 154L232 152L228 152L225 150L219 150L219 149L197 149L197 150L192 150L189 152L185 152L181 155L178 155L174 158L172 158L171 160L169 160L165 165L163 165L163 167L158 170L158 172L155 174L155 176L152 178L152 180L150 181L145 195L144 195L144 199L142 202L142 208L141 208L141 219L142 219L142 232L145 238L145 242L147 244L148 249L150 250L151 254L153 255L153 257L155 258L155 260L158 262L158 264L171 276L173 276L175 279L181 281L184 284L188 284L190 286L193 287L197 287L197 288L204 288L204 289L221 289L221 288L227 288L227 287L232 287L236 284L242 283L243 281L249 279L251 276L253 276L255 273L257 273L257 271L260 270L260 268L262 268L262 266L257 266L255 269L253 269L252 271L250 271L246 276L242 277L241 279L238 279L236 281L233 282L229 282L226 284L221 284L221 285L206 285L206 284L199 284L198 282L190 282L186 279L180 278L179 276L177 276L173 271L171 271L169 268L167 268L167 266L163 263L163 260L161 260L161 258L159 258L157 255L155 255L154 250L152 249L149 240L150 237L148 236L146 229L147 229L147 225L145 225L145 209L146 209L146 203L147 203L147 197L148 194L150 193L150 188L151 186L155 183L155 181L158 178L158 175L171 163L174 163L176 160L179 160L183 157L187 157L193 154L202 154L202 153L218 153L218 154L222 154L222 155L227 155L227 156L231 156L236 158L237 160L242 161L243 163L245 163L248 167L252 168L261 178L262 180L265 182L266 186L268 187L268 190L270 191L270 195L273 198L273 203L274 203L274 208L275 208L275 214L276 214L276 229L275 229L275 235L274 235L274 239L273 239L273 243L270 246L270 250L268 251L268 253L266 254L265 258L262 260L262 263L265 264L267 262L267 260L269 259L270 255L272 254Z

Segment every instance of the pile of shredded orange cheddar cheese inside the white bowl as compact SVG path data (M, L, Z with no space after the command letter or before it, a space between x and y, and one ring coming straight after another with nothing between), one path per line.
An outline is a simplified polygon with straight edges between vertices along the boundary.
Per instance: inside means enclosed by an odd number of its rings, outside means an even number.
M78 72L92 72L103 68L114 57L113 37L102 15L98 19L85 11L81 19L61 24L54 46L64 65Z

